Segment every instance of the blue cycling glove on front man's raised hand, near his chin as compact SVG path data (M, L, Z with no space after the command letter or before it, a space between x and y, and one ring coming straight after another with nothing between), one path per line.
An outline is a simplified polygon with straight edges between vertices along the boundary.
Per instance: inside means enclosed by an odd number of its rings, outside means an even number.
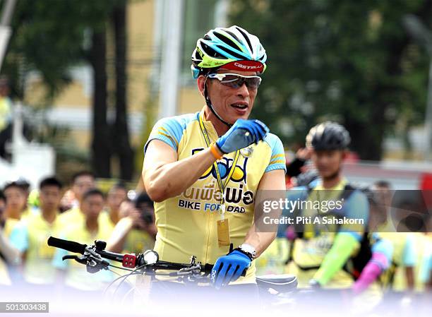
M269 131L259 120L237 119L227 133L216 140L216 145L224 154L235 152L252 143L258 144Z

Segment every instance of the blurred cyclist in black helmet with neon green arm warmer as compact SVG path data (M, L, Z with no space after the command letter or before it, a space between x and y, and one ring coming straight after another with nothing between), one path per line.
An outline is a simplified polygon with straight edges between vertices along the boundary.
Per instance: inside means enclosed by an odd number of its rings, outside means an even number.
M349 186L342 176L349 142L348 131L330 121L314 126L306 136L306 146L312 148L311 160L320 179L289 191L289 201L306 203L299 204L301 208L284 210L287 217L319 220L294 222L296 235L291 234L292 261L287 269L298 276L299 287L352 285L352 275L343 268L359 249L368 224L369 207L364 193ZM330 206L331 201L334 208L323 208L323 203ZM284 237L286 231L287 225L280 225L278 237Z

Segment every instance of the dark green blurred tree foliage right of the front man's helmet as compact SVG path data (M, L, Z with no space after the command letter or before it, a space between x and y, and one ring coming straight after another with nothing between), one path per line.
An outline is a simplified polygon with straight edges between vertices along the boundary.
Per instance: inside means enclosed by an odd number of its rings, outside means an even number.
M233 23L258 35L268 52L254 114L285 143L303 143L318 121L340 121L362 159L380 160L400 114L412 114L409 125L424 114L428 59L402 17L429 21L431 3L233 0Z

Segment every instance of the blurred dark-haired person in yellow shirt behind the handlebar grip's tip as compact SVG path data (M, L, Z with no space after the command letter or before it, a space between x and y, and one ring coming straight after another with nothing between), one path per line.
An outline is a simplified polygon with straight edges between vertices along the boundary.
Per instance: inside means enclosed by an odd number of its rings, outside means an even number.
M29 215L13 229L11 244L23 258L25 282L32 285L50 286L56 282L52 268L54 249L47 245L50 236L59 237L59 205L63 185L55 177L48 177L40 182L40 212Z

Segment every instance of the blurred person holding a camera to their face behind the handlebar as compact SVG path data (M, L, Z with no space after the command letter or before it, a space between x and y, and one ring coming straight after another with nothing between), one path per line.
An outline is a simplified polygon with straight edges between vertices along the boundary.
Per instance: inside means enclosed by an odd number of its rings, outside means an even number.
M153 201L146 193L121 203L119 217L107 243L108 251L142 253L153 249L157 229Z

